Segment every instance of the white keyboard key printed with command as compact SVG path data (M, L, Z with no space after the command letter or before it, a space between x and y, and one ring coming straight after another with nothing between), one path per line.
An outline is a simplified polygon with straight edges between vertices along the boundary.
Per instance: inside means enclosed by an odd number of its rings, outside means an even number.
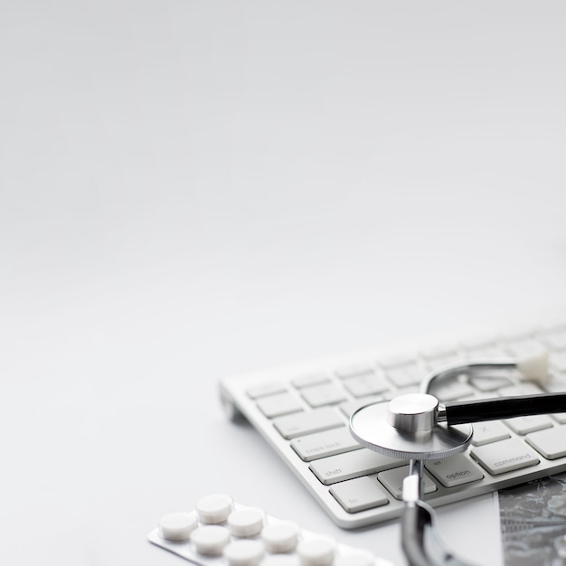
M470 454L492 476L536 466L541 461L524 445L524 442L517 439L501 440L472 448Z

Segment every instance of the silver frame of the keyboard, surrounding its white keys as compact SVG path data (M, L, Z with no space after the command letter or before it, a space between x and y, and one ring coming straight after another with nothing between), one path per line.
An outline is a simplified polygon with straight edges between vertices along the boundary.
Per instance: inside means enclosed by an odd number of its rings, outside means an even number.
M482 342L495 344L495 341L500 340L502 336L536 335L536 333L545 333L550 329L559 326L566 329L566 308L561 309L560 317L556 315L546 316L543 319L542 324L514 325L510 330L508 325L505 326L507 327L507 332L494 332L491 333L490 336L476 334L461 341L454 340L453 337L448 340L437 338L432 340L412 341L410 345L391 345L387 348L376 348L350 354L329 356L308 363L300 363L297 365L279 367L257 373L247 373L227 377L220 382L222 404L231 418L237 419L240 416L243 416L255 429L259 431L259 434L268 441L271 448L274 448L280 458L282 458L288 467L293 470L303 485L307 487L310 494L316 498L316 501L323 507L323 509L325 509L325 512L329 514L335 524L344 529L355 529L370 524L379 524L399 517L402 510L402 502L390 496L390 503L388 505L382 505L380 507L356 513L346 512L342 505L335 500L335 497L329 493L331 486L323 485L316 478L313 472L309 469L311 462L305 462L298 457L295 450L291 448L290 440L284 439L278 433L272 425L271 420L261 413L256 406L256 402L250 399L246 391L250 390L250 388L265 385L269 382L289 382L293 378L306 375L308 373L324 372L328 374L333 382L340 382L339 378L335 375L335 370L340 367L360 363L373 363L375 365L380 359L390 358L391 356L397 355L412 357L414 359L419 357L418 353L420 351L435 348L436 346L456 345L458 347L458 344L470 342L475 342L477 344ZM498 336L500 338L498 338ZM467 359L470 358L468 357ZM561 381L566 382L566 375L561 375ZM391 391L393 393L395 392L394 387L391 387ZM494 396L495 394L496 393L494 393ZM306 402L305 409L310 410L310 407ZM344 423L347 423L345 416ZM559 425L556 423L554 426ZM566 425L561 426L563 426L566 431ZM510 430L509 433L511 438L524 439L524 437L515 434L512 430ZM529 448L533 450L532 447ZM469 449L470 448L468 448L467 452L465 452L468 456ZM561 471L566 471L566 457L547 460L541 455L538 456L541 460L540 464L533 467L526 467L506 472L501 476L490 476L478 464L477 466L484 472L484 478L471 484L464 484L463 486L447 488L440 485L439 482L435 480L438 490L433 494L425 496L424 499L429 503L429 505L436 507L469 497L474 497L476 495L490 493L504 487L516 486L526 481L550 476ZM473 460L473 458L471 459ZM371 474L368 476L376 478L377 474ZM384 487L383 491L386 494L388 493L387 489Z

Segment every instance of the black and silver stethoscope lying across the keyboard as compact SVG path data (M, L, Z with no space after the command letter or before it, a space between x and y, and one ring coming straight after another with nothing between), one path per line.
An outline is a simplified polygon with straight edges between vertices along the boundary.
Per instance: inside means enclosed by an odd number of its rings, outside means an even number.
M444 548L435 534L434 512L421 497L424 462L466 450L473 435L471 422L566 410L566 393L453 401L444 405L429 394L433 384L486 370L517 370L527 380L543 381L548 373L547 354L450 365L431 373L421 383L419 393L365 405L350 418L350 432L363 447L409 460L409 475L402 484L401 545L410 566L466 566L466 562Z

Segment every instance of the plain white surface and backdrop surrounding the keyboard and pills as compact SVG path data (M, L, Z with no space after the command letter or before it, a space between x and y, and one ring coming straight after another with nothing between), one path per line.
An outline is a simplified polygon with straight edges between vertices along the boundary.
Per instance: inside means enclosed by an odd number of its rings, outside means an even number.
M345 532L231 373L564 299L561 2L0 2L0 561L167 566L222 491ZM501 564L493 498L439 512Z

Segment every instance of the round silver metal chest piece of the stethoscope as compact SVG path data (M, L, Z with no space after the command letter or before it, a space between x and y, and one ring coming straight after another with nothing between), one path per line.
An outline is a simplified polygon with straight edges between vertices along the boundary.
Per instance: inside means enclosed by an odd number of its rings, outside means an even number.
M439 401L425 393L401 395L358 409L350 431L363 447L391 458L431 460L463 452L472 440L469 424L438 422Z

